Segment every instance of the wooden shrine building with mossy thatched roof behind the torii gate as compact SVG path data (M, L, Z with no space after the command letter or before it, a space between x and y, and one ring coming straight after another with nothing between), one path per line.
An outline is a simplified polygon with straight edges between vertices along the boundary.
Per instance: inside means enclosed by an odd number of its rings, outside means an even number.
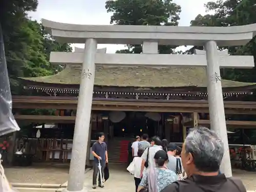
M18 123L35 125L27 145L37 146L37 161L70 161L80 75L81 65L67 65L52 76L22 78L32 96L13 96L13 109ZM228 129L255 129L256 122L234 118L256 114L256 102L244 101L255 83L221 81ZM48 109L54 115L23 114L24 109ZM206 68L96 66L91 143L104 132L110 161L126 162L127 142L136 135L180 144L198 125L210 126Z

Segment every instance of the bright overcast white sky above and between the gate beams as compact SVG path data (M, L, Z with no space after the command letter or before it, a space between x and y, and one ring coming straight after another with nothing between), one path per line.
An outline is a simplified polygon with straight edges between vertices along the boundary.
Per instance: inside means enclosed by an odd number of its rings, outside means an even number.
M128 1L128 0L127 0ZM174 0L181 6L179 26L189 26L198 14L206 14L204 4L209 0ZM215 0L212 0L215 1ZM83 25L110 25L112 13L107 13L105 0L39 0L36 12L30 12L29 16L38 22L41 18L54 22L83 24ZM83 45L75 45L83 48ZM124 49L124 45L98 45L105 48L107 53L115 53ZM185 50L181 47L179 50Z

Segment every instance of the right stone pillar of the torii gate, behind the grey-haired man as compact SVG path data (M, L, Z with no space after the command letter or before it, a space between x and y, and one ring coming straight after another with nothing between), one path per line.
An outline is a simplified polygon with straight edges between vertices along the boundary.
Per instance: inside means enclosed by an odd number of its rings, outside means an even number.
M225 120L224 103L222 96L220 65L218 63L217 43L210 40L205 44L208 78L208 103L210 112L210 128L214 130L224 143L224 156L221 162L221 172L226 177L232 177L227 127Z

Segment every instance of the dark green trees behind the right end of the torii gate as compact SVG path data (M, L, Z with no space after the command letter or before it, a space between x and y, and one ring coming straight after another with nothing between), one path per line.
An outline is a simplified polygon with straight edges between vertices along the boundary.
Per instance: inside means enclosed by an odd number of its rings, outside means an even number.
M256 23L256 1L255 0L219 0L208 2L207 11L214 11L210 15L198 15L191 20L191 26L241 26ZM256 58L255 37L245 46L222 47L228 49L231 55L253 55ZM256 82L256 70L254 69L225 69L222 70L223 78L244 82Z

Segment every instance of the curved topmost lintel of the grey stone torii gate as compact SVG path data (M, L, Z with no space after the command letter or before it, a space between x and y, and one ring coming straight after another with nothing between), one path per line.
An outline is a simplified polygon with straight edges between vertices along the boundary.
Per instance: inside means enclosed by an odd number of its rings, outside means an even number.
M87 38L98 44L142 44L202 46L215 40L218 46L245 45L256 35L256 24L231 27L77 25L42 19L42 25L60 42L83 44Z

